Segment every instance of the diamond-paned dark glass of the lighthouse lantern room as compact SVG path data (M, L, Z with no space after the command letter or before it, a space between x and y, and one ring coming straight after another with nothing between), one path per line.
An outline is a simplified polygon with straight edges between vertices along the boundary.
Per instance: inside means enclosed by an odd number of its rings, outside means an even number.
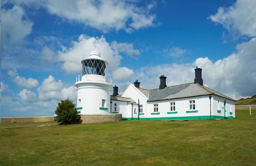
M101 76L105 76L106 65L104 61L89 59L83 61L83 70L82 75L85 74L97 74Z

